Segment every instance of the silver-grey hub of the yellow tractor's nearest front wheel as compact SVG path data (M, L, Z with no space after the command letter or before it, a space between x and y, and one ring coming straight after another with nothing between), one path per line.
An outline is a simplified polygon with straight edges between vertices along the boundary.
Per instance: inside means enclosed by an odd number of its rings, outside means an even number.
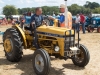
M39 72L42 72L44 69L44 60L40 54L37 54L35 57L35 67Z

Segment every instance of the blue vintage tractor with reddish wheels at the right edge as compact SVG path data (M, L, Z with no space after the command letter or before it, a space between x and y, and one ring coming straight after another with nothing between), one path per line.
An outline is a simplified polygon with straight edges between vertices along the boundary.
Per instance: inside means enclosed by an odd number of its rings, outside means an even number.
M95 29L100 33L100 17L93 17L91 24L87 27L88 32L93 32Z

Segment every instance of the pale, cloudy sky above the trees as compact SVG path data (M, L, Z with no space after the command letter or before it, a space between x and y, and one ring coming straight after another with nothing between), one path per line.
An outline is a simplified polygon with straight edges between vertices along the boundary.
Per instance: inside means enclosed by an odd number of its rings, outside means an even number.
M67 5L84 5L86 1L100 3L100 0L67 0ZM17 8L40 7L40 6L60 6L65 4L64 0L0 0L0 12L5 5L15 5Z

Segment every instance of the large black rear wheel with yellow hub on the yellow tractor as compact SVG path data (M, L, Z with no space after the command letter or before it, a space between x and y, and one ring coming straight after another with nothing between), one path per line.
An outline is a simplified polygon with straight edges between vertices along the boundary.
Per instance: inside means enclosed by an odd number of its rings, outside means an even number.
M22 42L16 29L9 28L3 35L3 46L6 58L11 62L18 62L22 58Z

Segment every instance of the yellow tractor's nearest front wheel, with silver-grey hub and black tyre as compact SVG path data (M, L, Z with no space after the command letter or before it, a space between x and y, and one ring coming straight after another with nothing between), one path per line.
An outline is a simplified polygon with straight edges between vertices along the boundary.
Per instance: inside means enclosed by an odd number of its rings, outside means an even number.
M33 68L37 75L48 75L50 71L50 57L44 49L38 49L33 55Z

